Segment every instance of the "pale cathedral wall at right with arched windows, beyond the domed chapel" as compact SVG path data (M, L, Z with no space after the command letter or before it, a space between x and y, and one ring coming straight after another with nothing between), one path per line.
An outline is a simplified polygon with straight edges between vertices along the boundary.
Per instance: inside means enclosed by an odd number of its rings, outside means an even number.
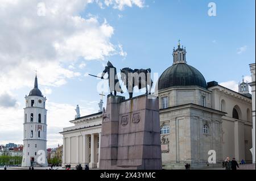
M215 89L212 90L212 108L221 111L221 100L225 100L225 116L222 116L222 130L223 130L223 156L236 158L238 161L245 159L247 162L251 162L251 131L252 127L251 117L247 117L247 109L251 111L251 100L244 98L242 100L233 96L232 94L225 94L222 91ZM230 93L236 94L232 91ZM239 95L241 96L241 95ZM243 96L242 96L243 97ZM239 120L233 119L233 108L238 106L241 110L239 113ZM250 147L250 148L249 148Z

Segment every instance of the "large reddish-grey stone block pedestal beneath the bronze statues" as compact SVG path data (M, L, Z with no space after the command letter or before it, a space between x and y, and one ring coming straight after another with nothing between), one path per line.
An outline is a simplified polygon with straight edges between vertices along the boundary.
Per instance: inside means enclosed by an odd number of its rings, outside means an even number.
M162 169L158 99L108 96L100 169Z

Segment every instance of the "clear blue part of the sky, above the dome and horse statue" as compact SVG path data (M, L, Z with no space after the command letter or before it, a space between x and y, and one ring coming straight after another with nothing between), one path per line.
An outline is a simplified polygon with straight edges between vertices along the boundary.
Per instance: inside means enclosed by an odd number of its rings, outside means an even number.
M89 5L81 16L88 12L104 18L114 27L114 44L121 43L127 52L125 58L109 56L106 60L120 68L151 68L159 75L172 64L172 48L177 40L187 48L187 61L204 75L207 82L241 81L242 75L250 75L249 65L255 60L255 2L214 1L217 16L208 16L210 1L146 1L143 9L138 7L124 11L100 9L97 4ZM118 18L122 15L122 18ZM238 48L246 46L238 54ZM86 62L88 73L98 74L104 68L100 61ZM100 71L99 71L100 70ZM98 92L93 77L68 82L58 87L58 101L69 91L73 104L81 98L97 100Z

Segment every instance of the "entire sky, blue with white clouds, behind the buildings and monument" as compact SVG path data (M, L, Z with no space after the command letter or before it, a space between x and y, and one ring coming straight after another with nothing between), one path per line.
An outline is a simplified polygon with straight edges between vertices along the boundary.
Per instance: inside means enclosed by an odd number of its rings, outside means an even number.
M48 147L81 115L97 112L100 74L107 60L119 69L172 64L177 40L187 61L204 75L238 90L255 62L255 1L0 0L0 144L22 144L24 96L33 87L47 96ZM127 93L125 94L127 96ZM105 102L105 99L104 99Z

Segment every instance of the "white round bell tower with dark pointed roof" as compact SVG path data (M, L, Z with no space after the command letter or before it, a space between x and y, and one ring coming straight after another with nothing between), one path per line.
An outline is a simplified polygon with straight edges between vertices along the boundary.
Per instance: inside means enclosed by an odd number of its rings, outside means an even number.
M48 166L46 97L43 97L38 89L37 77L35 77L34 89L25 96L25 99L22 167Z

